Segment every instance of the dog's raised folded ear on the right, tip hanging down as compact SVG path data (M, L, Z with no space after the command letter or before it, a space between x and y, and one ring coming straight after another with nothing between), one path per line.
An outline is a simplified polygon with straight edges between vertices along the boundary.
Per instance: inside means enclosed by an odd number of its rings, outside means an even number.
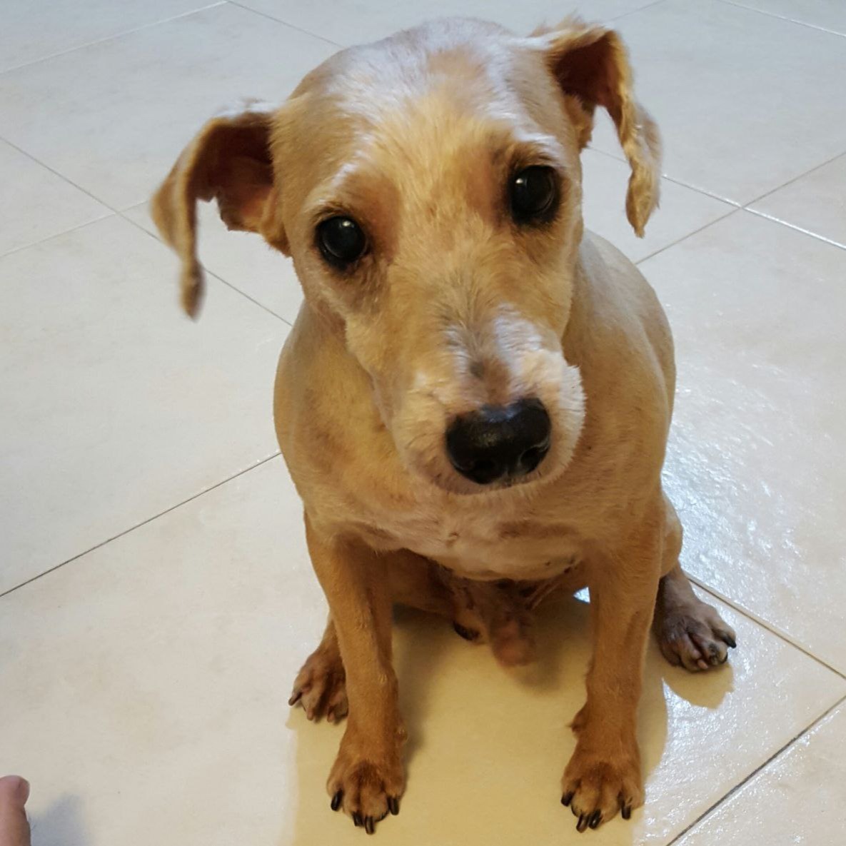
M642 238L658 205L661 142L655 122L634 100L623 41L613 30L575 18L536 36L545 41L547 66L563 91L581 147L591 140L594 109L602 106L611 115L631 166L626 215Z

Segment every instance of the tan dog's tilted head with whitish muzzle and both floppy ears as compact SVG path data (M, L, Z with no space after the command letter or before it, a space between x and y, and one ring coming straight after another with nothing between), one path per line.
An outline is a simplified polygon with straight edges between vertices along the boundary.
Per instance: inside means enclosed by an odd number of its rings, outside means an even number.
M214 198L230 228L293 257L305 307L370 376L409 469L454 492L550 478L584 419L562 338L597 106L641 234L657 135L613 31L448 20L339 52L282 107L211 120L158 191L184 308L202 288L195 202Z

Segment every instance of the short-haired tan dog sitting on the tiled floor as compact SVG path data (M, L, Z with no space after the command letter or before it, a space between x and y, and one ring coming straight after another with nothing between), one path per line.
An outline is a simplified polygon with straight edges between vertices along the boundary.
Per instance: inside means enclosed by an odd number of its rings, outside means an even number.
M653 618L691 670L734 645L679 568L662 492L667 321L640 272L583 231L597 106L631 165L641 234L656 128L618 36L574 19L528 38L440 21L343 50L283 106L206 124L153 201L191 315L197 200L294 259L305 303L275 417L330 618L292 704L349 709L328 790L369 833L405 788L393 602L519 663L531 609L590 587L595 651L563 776L580 831L643 802L635 711Z

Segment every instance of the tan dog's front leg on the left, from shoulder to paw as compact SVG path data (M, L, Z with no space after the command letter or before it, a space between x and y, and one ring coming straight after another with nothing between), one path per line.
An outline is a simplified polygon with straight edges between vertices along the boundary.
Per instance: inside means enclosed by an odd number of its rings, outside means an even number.
M388 557L359 541L321 536L305 519L311 562L329 602L346 671L349 717L329 774L332 810L368 833L396 814L405 785L397 677L391 664Z

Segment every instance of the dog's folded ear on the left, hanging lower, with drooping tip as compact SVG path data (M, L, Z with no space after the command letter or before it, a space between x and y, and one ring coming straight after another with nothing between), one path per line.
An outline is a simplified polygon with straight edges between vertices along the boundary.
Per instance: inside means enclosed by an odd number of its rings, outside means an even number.
M162 237L179 253L182 307L192 317L199 309L204 282L196 250L198 200L217 200L228 228L265 233L272 244L287 248L275 220L272 118L272 108L262 103L212 118L153 195L152 217Z

